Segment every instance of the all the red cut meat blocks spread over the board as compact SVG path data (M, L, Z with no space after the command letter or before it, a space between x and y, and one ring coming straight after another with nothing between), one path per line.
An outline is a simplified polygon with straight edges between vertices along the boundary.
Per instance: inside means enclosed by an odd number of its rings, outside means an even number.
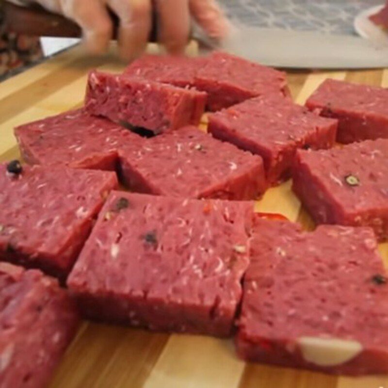
M47 384L79 315L388 373L387 100L326 80L300 106L220 52L92 71L84 107L16 128L26 163L0 165L0 387ZM291 177L313 232L254 212Z

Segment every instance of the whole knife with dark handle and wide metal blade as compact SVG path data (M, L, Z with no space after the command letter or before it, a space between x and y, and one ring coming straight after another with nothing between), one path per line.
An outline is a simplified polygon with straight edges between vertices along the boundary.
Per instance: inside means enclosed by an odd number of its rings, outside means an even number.
M80 37L81 29L63 16L40 7L24 8L5 2L9 30L38 36ZM117 32L118 20L112 15ZM116 36L116 35L114 35ZM150 41L156 41L156 23ZM350 69L388 67L388 47L366 39L320 32L288 31L239 26L221 45L208 39L200 29L193 37L201 52L223 49L252 61L285 68Z

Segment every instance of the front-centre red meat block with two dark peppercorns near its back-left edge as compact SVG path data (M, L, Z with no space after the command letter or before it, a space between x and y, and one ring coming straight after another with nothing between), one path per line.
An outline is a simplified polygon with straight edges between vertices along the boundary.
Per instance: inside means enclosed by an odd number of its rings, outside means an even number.
M253 207L113 192L67 285L87 318L228 336Z

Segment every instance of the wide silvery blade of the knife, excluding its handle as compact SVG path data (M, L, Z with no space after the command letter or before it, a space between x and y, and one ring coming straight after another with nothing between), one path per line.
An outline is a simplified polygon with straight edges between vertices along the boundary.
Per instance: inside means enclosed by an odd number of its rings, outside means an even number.
M388 67L387 45L351 35L242 26L231 34L222 48L275 67Z

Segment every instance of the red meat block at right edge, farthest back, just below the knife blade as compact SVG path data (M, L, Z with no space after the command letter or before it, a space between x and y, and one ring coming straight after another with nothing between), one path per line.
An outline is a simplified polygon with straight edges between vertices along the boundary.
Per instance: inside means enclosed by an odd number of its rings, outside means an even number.
M337 141L353 143L388 138L388 89L325 80L308 98L306 106L339 120Z

